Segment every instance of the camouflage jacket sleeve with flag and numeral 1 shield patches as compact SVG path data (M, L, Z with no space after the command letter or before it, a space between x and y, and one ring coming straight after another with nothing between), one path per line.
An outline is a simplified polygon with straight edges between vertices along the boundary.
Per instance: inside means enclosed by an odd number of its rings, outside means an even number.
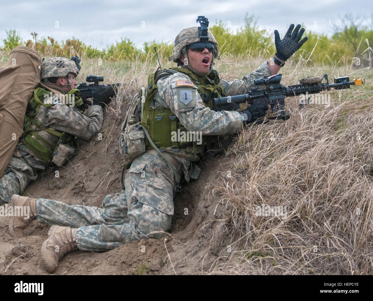
M216 112L206 108L197 86L185 86L191 80L186 74L175 73L157 82L158 91L154 106L170 108L182 125L202 135L223 135L237 133L242 129L241 115L235 111Z

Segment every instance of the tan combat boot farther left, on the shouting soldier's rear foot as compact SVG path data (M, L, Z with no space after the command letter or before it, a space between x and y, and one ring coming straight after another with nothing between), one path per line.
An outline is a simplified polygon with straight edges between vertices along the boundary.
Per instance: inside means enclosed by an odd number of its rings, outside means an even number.
M25 219L24 216L12 216L9 222L10 235L16 238L26 236L23 230L36 218L36 201L37 199L31 199L31 197L13 194L8 206L13 206L13 208L15 206L28 206L30 217Z

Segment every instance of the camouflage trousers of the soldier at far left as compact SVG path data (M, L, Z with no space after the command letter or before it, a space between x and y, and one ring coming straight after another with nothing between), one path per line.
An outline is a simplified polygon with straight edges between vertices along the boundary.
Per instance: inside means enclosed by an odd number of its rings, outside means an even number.
M37 176L37 169L29 166L25 158L12 157L5 175L0 179L0 205L9 203L13 194L22 194Z

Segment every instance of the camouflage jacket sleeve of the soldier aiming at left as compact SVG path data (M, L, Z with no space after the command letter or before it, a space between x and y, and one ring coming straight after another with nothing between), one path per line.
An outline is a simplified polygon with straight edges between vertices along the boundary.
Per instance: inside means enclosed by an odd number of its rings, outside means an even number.
M92 139L101 129L104 117L100 105L92 105L84 115L65 104L48 108L46 127L72 134L82 139Z

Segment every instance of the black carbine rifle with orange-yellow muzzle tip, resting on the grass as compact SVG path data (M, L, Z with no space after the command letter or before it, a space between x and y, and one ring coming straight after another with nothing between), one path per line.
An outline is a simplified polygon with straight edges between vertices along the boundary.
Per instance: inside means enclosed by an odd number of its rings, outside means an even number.
M329 91L331 88L336 90L349 89L351 85L363 85L364 79L354 79L350 82L348 77L338 77L334 79L333 84L329 84L327 74L323 77L306 77L299 80L299 85L285 86L280 84L282 74L275 74L270 77L263 76L254 80L255 86L247 94L214 98L215 111L232 111L239 109L239 104L248 102L248 104L270 105L275 117L269 119L288 119L289 115L285 113L285 97L320 93ZM322 82L325 79L326 82Z

